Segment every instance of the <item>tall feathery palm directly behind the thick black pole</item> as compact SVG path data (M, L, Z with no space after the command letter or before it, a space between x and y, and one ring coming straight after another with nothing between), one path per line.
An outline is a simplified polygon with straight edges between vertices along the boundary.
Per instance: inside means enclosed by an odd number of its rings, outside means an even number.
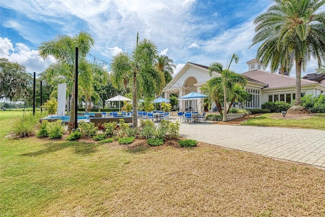
M46 59L52 55L57 60L57 65L61 65L68 71L59 71L69 75L70 79L73 79L73 89L71 98L71 110L69 122L73 123L75 119L75 48L79 48L79 62L85 61L87 53L94 45L94 40L89 33L80 32L79 35L62 36L58 35L54 40L43 42L38 51L41 57ZM87 71L80 72L80 76ZM89 83L87 83L89 84Z

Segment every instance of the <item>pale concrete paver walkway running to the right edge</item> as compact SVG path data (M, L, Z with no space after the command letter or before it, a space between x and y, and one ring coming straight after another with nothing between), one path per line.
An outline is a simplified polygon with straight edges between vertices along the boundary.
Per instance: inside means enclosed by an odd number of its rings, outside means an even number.
M181 123L180 136L325 167L325 131L321 130Z

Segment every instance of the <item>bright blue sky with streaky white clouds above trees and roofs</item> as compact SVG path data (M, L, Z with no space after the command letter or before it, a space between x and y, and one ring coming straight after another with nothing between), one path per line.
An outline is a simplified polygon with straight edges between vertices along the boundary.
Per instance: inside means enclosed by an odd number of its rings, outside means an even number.
M55 62L38 54L42 42L57 35L74 36L80 31L95 40L87 58L107 63L121 51L131 54L140 40L150 39L158 53L173 59L175 76L187 63L224 66L233 53L238 64L231 69L248 71L258 45L250 47L254 18L274 2L269 0L1 0L0 58L17 62L29 73L43 72ZM302 76L313 73L311 60ZM266 69L268 70L268 68ZM290 73L295 75L295 69Z

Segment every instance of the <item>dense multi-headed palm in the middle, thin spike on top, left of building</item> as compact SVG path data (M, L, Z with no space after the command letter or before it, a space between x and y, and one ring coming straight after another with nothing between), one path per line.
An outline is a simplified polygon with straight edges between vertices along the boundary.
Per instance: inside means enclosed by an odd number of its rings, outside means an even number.
M113 57L111 63L112 73L116 81L123 80L126 74L132 77L133 84L133 127L137 127L138 104L137 98L142 96L149 101L154 99L155 94L161 91L164 87L164 75L154 69L154 61L157 57L157 47L148 39L138 41L132 52L132 55L127 53L119 53ZM119 84L112 82L115 88ZM139 96L138 96L139 95Z

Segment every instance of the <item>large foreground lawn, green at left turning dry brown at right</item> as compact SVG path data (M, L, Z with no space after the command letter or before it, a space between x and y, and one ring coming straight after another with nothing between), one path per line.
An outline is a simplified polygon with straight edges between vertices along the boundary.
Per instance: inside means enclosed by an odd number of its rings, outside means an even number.
M324 170L203 143L143 141L2 137L0 215L325 216Z

